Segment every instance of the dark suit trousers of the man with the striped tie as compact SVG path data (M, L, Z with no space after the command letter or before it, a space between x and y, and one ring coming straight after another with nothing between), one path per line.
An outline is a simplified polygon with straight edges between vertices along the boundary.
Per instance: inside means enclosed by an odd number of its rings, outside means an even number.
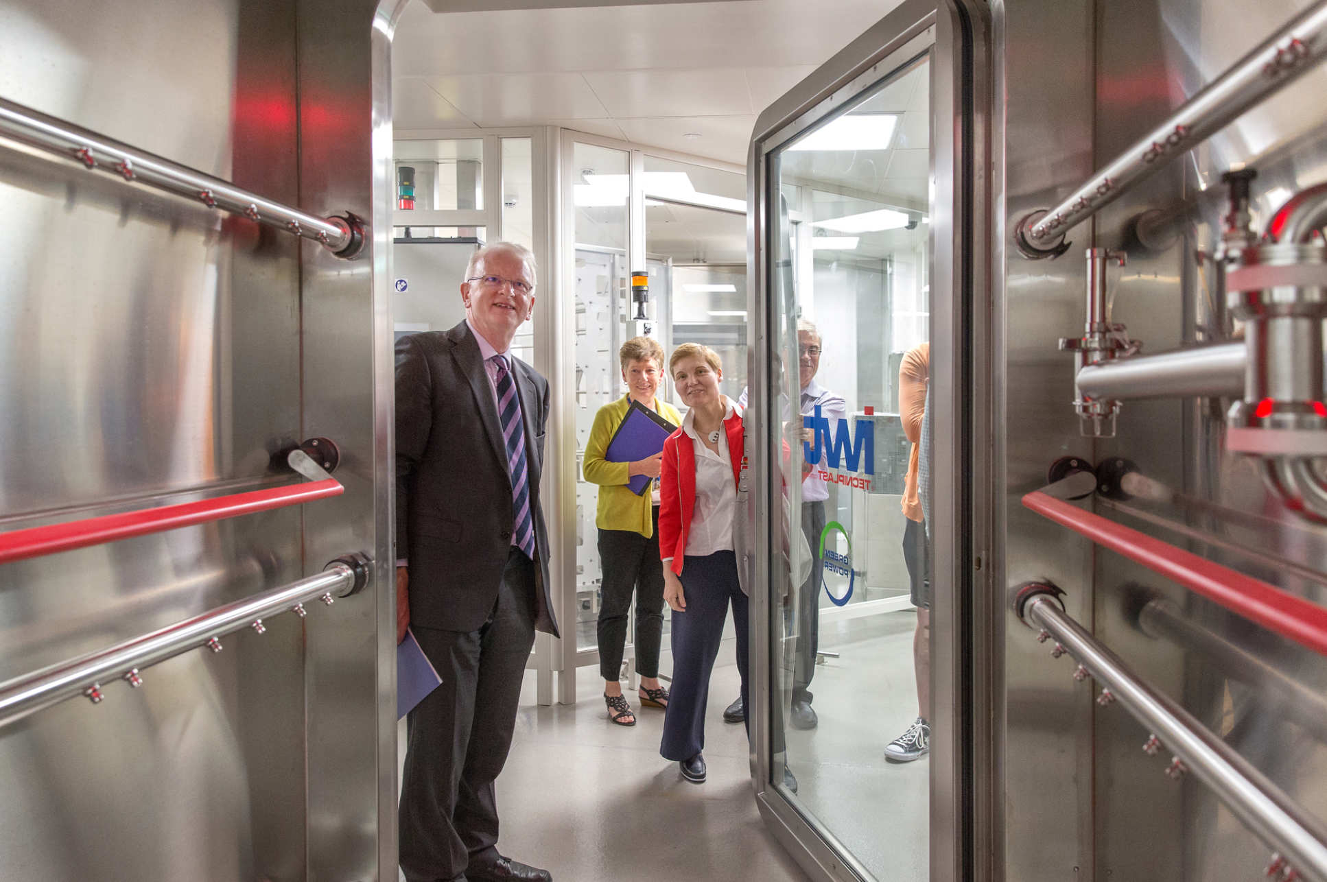
M511 550L498 602L478 631L411 631L442 686L406 718L401 869L407 882L435 882L498 857L494 781L511 749L535 643L535 564Z

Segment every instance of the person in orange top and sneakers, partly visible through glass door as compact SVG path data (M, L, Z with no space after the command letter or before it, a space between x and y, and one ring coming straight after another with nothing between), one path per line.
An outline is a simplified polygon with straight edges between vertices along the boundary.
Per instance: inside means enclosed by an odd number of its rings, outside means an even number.
M917 462L921 454L921 420L926 412L926 385L930 379L930 344L909 349L898 365L898 414L904 435L912 442L908 477L904 483L904 561L912 581L912 602L917 607L913 634L913 670L917 675L917 719L885 747L885 759L910 763L930 752L930 549L926 545L926 519L917 499Z

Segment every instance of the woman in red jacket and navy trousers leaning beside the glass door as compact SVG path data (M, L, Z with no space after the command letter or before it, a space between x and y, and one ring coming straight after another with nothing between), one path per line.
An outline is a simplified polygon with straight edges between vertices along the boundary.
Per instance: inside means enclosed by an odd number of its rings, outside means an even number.
M734 524L743 477L742 409L719 393L723 365L714 350L683 344L669 374L690 409L664 442L660 483L660 557L664 599L673 609L673 688L660 753L682 776L705 780L705 704L729 603L738 635L738 674L747 698L747 596L738 568Z

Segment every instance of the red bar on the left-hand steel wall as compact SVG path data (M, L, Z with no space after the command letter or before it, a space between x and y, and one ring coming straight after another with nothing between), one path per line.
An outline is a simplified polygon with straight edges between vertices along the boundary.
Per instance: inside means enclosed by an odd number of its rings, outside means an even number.
M334 477L0 533L0 564L340 496Z

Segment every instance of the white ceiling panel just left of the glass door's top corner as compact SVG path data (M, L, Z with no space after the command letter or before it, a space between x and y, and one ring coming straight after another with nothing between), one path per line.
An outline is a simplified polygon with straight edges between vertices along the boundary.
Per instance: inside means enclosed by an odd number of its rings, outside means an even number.
M739 68L614 70L585 81L613 117L718 117L750 114L751 92Z

